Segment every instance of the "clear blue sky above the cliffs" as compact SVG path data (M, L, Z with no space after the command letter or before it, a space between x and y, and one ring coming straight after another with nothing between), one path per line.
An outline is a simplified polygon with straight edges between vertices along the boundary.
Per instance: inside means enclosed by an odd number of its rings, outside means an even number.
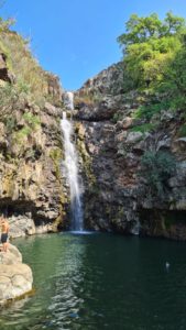
M121 59L116 40L132 13L169 10L186 18L186 0L7 0L0 15L17 19L40 64L72 90Z

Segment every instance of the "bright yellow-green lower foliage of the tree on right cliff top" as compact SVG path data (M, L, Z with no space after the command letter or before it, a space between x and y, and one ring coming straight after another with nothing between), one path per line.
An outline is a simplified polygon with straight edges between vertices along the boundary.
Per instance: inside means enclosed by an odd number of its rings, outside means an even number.
M166 76L167 65L180 47L182 43L175 36L152 38L149 42L128 46L124 67L125 74L133 81L133 87L160 85Z

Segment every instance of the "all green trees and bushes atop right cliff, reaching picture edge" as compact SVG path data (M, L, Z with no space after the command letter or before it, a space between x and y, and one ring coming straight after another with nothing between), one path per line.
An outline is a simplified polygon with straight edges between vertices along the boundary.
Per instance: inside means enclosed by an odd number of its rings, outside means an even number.
M186 106L186 21L168 12L163 21L153 13L131 15L125 33L118 37L123 50L124 90L139 89L164 95L161 101L139 109L150 120L162 109Z

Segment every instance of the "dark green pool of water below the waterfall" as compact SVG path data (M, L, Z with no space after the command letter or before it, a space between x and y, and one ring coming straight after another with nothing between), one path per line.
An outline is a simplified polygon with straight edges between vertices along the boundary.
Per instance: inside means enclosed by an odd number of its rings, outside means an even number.
M0 329L186 329L186 243L111 234L14 243L36 293L1 310Z

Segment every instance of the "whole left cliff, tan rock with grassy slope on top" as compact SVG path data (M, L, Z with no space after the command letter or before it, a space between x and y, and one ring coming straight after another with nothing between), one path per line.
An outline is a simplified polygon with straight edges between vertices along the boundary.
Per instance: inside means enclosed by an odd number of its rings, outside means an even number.
M55 231L67 194L61 175L63 89L24 40L0 34L0 212L10 235Z

